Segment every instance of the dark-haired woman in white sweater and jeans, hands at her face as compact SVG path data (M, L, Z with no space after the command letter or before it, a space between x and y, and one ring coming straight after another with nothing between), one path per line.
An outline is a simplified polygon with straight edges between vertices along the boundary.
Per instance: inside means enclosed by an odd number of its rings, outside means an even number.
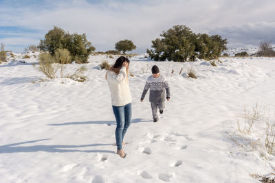
M126 156L122 149L122 142L131 124L132 117L132 99L128 80L129 63L130 61L127 58L120 56L105 75L111 91L113 114L115 114L115 141L118 146L117 154L121 158L125 158Z

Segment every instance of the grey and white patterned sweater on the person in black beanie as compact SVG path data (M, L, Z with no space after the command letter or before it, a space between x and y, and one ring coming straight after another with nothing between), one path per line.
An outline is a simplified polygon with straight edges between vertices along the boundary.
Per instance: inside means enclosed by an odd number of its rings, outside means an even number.
M150 88L149 101L165 101L166 98L170 98L170 88L166 77L163 75L159 75L159 77L155 78L153 75L147 78L142 97L143 100L148 89Z

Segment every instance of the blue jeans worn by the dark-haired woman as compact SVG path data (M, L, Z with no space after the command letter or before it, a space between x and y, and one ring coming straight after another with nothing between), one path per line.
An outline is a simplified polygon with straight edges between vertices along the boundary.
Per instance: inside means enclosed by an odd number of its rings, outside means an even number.
M116 129L115 129L115 141L118 149L122 149L122 141L124 135L131 125L132 118L132 103L128 103L125 106L112 106L113 114L115 114Z

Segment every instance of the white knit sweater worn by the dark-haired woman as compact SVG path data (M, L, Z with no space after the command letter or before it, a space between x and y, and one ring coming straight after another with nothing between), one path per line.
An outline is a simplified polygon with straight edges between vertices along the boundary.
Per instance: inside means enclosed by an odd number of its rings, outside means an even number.
M111 91L113 106L124 106L132 102L129 82L126 77L126 67L122 66L118 75L112 71L107 71L107 82Z

